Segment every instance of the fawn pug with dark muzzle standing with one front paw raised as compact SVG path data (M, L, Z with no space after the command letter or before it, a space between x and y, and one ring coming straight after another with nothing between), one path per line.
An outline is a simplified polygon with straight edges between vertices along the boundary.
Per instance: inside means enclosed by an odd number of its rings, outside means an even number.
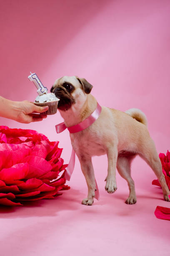
M65 125L70 127L88 118L97 107L97 100L90 92L92 85L84 78L61 77L51 88L57 98L58 110ZM147 129L145 114L132 108L126 112L102 107L99 118L83 131L70 133L72 148L80 161L85 176L88 194L83 205L92 205L95 197L95 174L92 156L107 154L108 169L105 190L110 194L117 189L116 168L120 176L128 182L127 204L137 202L135 184L130 174L130 165L139 155L153 169L162 189L165 201L170 201L170 191L165 182L162 165L153 139Z

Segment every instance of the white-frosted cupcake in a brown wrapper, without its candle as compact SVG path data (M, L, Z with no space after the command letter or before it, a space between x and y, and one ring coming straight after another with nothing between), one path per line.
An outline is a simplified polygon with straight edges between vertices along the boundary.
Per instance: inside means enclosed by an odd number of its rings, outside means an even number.
M53 115L57 113L59 99L55 96L54 93L44 93L38 95L35 99L34 104L37 106L48 106L48 110L43 112L44 115Z

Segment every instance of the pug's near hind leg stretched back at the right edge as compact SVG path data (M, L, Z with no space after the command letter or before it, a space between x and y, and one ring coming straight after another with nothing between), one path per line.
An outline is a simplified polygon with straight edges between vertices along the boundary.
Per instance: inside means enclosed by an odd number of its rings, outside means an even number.
M165 201L170 202L170 198L169 198L170 190L166 184L165 176L162 172L162 164L158 156L158 153L156 151L155 143L152 140L152 138L148 138L147 143L143 144L142 152L140 152L139 155L153 169L153 172L155 172L155 175L158 178L161 184L161 187L163 189L163 197Z

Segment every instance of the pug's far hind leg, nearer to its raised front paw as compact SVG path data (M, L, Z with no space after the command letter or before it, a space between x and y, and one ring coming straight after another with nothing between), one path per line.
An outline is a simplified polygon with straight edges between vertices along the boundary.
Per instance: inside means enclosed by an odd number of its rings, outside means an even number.
M135 155L133 156L118 156L117 158L117 171L119 172L120 176L124 178L128 182L129 187L129 197L125 201L128 205L133 205L137 202L136 199L136 192L135 192L135 183L130 174L130 164L131 161L134 159Z

